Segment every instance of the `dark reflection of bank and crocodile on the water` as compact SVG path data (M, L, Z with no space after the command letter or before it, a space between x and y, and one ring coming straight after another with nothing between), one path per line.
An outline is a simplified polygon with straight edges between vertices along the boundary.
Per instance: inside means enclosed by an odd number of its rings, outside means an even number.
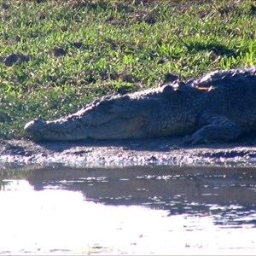
M13 173L13 175L11 175ZM2 172L2 189L20 172ZM214 224L256 224L254 168L141 166L112 169L45 167L23 172L35 190L82 192L84 200L143 206L169 216L211 216Z

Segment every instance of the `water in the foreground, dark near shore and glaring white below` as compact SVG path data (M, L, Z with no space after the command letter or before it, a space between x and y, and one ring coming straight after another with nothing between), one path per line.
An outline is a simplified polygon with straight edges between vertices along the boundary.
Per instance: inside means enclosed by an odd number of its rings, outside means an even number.
M0 254L252 254L256 169L0 170Z

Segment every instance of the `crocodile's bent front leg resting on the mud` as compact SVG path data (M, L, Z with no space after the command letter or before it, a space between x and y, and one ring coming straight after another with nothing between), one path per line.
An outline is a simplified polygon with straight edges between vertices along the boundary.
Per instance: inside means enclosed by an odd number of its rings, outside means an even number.
M205 144L216 142L229 142L241 136L241 127L232 120L220 114L209 112L199 116L198 131L191 136L183 138L185 144Z

